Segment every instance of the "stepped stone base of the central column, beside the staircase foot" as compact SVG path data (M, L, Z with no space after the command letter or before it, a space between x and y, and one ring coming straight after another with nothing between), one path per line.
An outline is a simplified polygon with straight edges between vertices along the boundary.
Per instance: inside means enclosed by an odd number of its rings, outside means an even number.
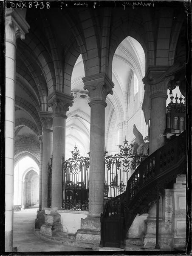
M82 218L81 228L76 232L76 239L99 244L101 239L100 217Z

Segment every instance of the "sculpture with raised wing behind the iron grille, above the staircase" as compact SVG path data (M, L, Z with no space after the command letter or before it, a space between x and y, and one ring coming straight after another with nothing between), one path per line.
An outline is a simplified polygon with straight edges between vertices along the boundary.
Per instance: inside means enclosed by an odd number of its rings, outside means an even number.
M149 142L144 142L144 140L149 141L149 135L143 139L143 135L138 131L136 128L136 125L133 125L133 134L135 135L135 141L136 144L134 145L133 148L133 153L135 154L142 154L142 155L147 155L149 151ZM148 134L149 134L149 126L148 126Z

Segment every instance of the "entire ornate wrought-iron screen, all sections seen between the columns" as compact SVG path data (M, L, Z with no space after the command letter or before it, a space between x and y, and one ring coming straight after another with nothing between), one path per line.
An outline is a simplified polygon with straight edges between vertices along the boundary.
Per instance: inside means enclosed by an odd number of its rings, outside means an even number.
M104 155L104 203L125 192L127 181L147 155L133 154L133 145L119 145L120 152ZM62 159L62 209L88 211L90 157L80 156L75 146L71 158ZM139 177L138 177L139 178ZM48 207L51 207L52 157L48 165Z

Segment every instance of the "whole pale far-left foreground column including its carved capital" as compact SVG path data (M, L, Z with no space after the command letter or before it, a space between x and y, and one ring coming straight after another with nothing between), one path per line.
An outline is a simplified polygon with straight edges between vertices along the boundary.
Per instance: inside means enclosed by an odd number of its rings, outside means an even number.
M14 101L16 39L25 38L29 25L26 9L6 9L6 217L5 251L13 250L13 195L14 195Z

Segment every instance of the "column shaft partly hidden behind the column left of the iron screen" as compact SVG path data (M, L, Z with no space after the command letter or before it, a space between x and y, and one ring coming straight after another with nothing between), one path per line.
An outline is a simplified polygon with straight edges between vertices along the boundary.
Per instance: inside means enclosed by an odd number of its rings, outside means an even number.
M42 149L42 209L47 207L48 195L48 163L50 163L53 151L53 131L43 131L43 149Z

